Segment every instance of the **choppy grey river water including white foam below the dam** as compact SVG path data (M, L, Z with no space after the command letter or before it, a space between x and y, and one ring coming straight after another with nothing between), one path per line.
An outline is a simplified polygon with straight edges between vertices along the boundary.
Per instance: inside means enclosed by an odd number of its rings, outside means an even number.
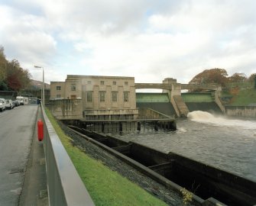
M164 153L173 152L256 182L256 120L190 112L172 132L116 135Z

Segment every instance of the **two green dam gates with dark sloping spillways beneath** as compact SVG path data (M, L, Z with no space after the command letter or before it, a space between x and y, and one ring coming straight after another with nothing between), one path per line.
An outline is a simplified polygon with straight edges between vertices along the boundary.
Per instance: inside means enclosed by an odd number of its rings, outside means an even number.
M211 92L182 93L178 102L182 102L189 112L207 111L212 114L223 114L215 102L215 95ZM136 93L136 106L137 108L151 108L170 117L179 116L167 93Z

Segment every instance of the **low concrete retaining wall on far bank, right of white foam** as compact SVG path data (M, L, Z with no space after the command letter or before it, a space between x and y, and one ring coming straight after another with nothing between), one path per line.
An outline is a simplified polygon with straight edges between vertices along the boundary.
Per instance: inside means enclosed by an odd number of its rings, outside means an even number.
M256 106L225 106L225 114L236 117L256 117Z

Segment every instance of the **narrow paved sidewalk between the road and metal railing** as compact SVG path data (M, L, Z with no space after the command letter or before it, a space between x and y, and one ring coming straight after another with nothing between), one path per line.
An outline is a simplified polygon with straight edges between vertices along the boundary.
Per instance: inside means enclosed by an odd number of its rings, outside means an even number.
M39 119L42 119L41 107L38 108L37 112L37 120ZM48 205L44 143L37 140L37 123L34 128L34 137L19 205Z

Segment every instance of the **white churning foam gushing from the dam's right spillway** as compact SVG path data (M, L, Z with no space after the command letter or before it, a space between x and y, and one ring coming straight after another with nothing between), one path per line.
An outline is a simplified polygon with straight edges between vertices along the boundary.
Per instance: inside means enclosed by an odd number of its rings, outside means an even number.
M215 124L218 126L243 127L245 129L256 129L256 121L244 121L228 119L225 117L216 117L206 111L192 111L187 114L191 121L197 121L203 124Z

